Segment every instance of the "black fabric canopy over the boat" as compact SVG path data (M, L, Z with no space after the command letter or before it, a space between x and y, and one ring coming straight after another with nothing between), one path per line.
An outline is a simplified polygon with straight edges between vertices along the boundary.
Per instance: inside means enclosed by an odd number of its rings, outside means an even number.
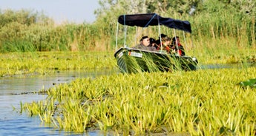
M183 30L191 33L191 25L189 21L181 21L173 18L163 18L156 13L121 15L118 18L118 22L123 25L137 27L156 26L160 24L169 28Z

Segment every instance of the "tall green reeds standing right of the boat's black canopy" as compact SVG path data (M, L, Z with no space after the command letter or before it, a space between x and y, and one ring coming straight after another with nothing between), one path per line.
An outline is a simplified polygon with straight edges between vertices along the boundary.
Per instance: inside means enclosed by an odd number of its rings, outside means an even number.
M240 49L256 47L254 16L217 12L193 16L190 20L196 39L235 38L235 45Z

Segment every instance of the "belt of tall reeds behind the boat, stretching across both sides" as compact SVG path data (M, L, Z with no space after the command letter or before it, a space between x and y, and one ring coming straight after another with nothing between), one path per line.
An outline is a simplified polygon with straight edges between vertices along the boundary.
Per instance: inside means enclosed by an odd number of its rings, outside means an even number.
M220 5L221 9L223 5ZM214 7L214 6L213 6ZM255 16L239 13L234 9L220 10L220 7L209 9L194 16L167 15L171 18L188 20L191 22L192 41L208 41L198 50L214 50L218 44L215 41L223 41L228 46L234 46L240 50L255 49L256 28ZM232 14L229 14L232 12ZM117 16L116 16L117 17ZM117 18L116 18L117 21ZM60 24L53 23L30 23L22 24L19 21L1 22L0 51L1 52L27 52L27 51L88 51L88 50L114 50L116 36L116 21L97 21L95 24ZM4 24L5 23L5 24ZM109 24L111 23L111 24ZM121 26L121 25L119 25ZM142 30L142 29L141 29ZM135 33L136 28L131 28L134 33L129 33L127 39L134 46L139 42L141 35L149 35L158 38L157 27L152 30L143 29ZM123 45L125 31L119 30L119 45ZM128 30L129 31L129 30ZM172 36L170 30L162 33ZM134 38L137 35L137 38ZM179 34L180 35L180 34ZM183 35L183 34L181 34ZM181 37L181 36L180 36ZM181 39L183 41L183 39ZM231 42L229 42L231 40ZM235 49L236 49L235 48ZM218 50L214 50L216 54ZM207 55L207 54L206 54Z

